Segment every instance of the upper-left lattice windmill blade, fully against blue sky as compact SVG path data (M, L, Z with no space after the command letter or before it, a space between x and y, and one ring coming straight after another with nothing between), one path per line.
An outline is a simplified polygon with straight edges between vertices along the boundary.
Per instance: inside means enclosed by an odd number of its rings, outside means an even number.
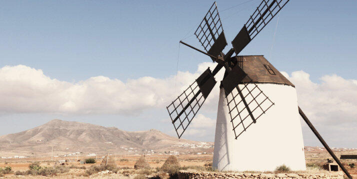
M227 45L215 2L204 15L194 34L204 50L213 56L217 56Z

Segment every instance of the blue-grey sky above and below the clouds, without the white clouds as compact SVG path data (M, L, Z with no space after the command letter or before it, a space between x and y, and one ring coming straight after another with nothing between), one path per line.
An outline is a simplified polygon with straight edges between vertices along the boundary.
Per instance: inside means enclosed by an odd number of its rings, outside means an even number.
M200 48L193 30L212 2L2 0L0 67L22 64L41 69L51 79L70 83L93 76L123 82L143 76L164 79L176 75L176 67L195 73L198 64L210 59L183 45L178 48L178 41L188 37L185 42ZM246 3L229 8L242 2ZM217 1L228 44L258 3L260 0ZM314 83L332 74L357 79L356 7L355 0L290 0L240 54L263 54L280 71L290 74L303 70ZM160 108L130 115L1 110L0 120L7 125L0 126L0 134L34 127L52 118L125 130L172 129L160 123L167 117L165 109ZM207 115L214 118L212 113ZM211 135L187 138L213 140Z

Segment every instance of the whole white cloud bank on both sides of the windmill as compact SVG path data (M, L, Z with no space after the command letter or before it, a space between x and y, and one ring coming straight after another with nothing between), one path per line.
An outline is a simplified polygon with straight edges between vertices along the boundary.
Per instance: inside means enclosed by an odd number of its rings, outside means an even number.
M215 64L200 63L193 73L178 71L177 75L165 78L144 76L121 81L94 76L77 82L60 81L46 76L41 69L25 65L4 66L0 68L0 113L135 115L145 110L164 108L208 66L213 69ZM223 70L216 76L216 86L185 136L214 133L215 116L212 111L217 108L222 73ZM355 142L357 80L330 74L313 82L304 71L282 73L295 84L300 107L320 133L333 143ZM309 140L314 138L311 133L305 135L307 143L314 140Z

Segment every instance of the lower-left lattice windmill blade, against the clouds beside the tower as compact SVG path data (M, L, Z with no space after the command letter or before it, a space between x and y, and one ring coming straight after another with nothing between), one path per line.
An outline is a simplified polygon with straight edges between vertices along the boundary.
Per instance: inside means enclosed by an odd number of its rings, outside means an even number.
M204 100L214 87L216 81L214 74L207 68L191 85L189 85L175 100L173 100L166 108L170 115L173 127L176 130L178 138L180 138L187 126L191 123L193 117L202 106ZM218 70L219 70L218 69Z

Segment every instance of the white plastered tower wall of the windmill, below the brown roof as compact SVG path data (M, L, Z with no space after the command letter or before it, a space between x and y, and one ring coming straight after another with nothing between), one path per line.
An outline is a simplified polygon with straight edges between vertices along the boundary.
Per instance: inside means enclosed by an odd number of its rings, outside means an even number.
M237 139L220 89L214 138L213 167L219 170L271 171L281 164L305 170L305 156L295 88L258 84L275 104Z

